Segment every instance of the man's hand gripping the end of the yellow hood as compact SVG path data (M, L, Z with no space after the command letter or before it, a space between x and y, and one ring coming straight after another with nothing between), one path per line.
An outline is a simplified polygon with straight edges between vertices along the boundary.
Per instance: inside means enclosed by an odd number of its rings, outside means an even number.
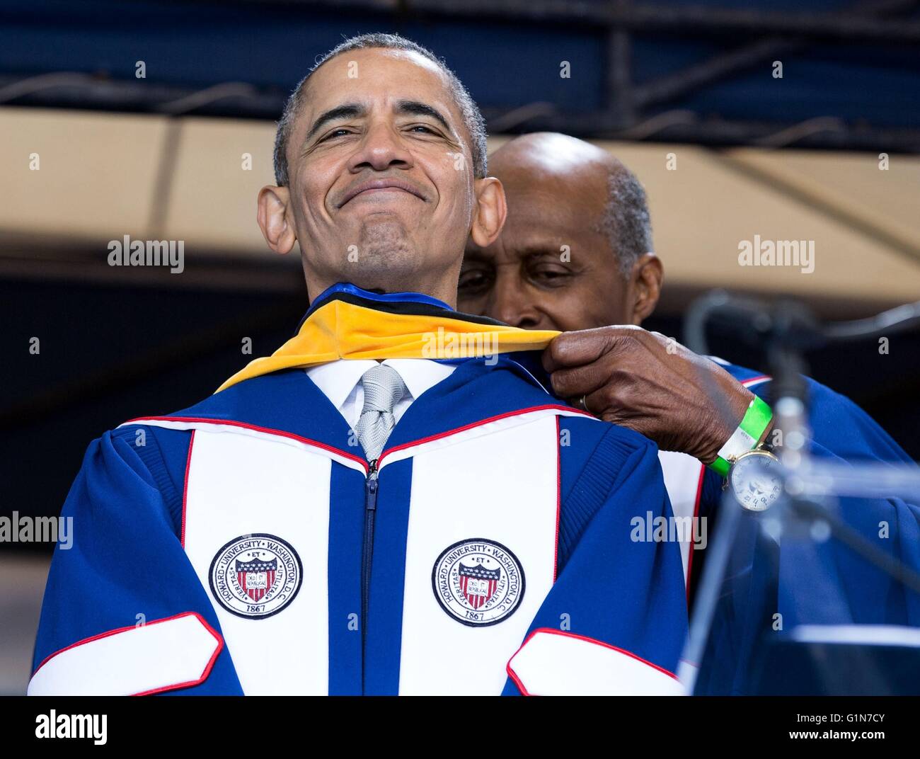
M711 464L753 393L717 363L640 327L564 332L543 353L553 389L604 421L641 432L662 451Z

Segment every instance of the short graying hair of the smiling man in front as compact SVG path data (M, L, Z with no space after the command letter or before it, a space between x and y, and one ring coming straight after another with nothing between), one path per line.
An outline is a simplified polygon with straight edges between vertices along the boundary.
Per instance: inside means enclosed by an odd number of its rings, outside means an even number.
M479 112L473 98L470 98L469 93L466 91L466 87L463 86L463 83L457 78L457 75L448 68L447 64L427 48L423 48L420 44L412 40L407 40L405 37L400 37L397 34L378 33L361 34L337 45L327 52L326 55L318 58L313 68L310 69L309 74L301 79L298 85L294 87L291 97L288 98L287 102L284 104L282 119L278 122L278 132L275 134L275 182L277 182L278 186L286 187L289 180L287 144L291 137L291 132L293 132L293 123L300 113L301 106L304 105L305 85L307 81L309 81L310 76L312 76L316 69L323 63L326 63L329 59L335 58L343 52L374 48L417 52L432 63L437 64L438 68L443 72L443 75L447 77L451 95L454 97L456 107L459 109L460 115L463 118L464 126L466 126L466 132L469 134L470 153L473 155L473 174L476 178L481 179L485 177L487 167L486 122L483 120L482 114Z

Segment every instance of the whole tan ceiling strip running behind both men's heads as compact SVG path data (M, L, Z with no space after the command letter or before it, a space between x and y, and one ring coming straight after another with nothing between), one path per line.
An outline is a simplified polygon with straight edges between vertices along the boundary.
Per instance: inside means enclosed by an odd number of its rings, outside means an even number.
M489 150L506 139L490 139ZM0 235L46 240L47 255L61 239L104 245L131 235L184 240L187 256L270 264L256 198L273 182L273 143L274 124L262 121L0 109ZM671 287L867 303L920 297L920 159L892 156L880 171L874 155L601 145L648 190ZM39 171L29 171L32 153ZM803 273L805 261L740 265L740 245L757 239L813 245L814 270Z

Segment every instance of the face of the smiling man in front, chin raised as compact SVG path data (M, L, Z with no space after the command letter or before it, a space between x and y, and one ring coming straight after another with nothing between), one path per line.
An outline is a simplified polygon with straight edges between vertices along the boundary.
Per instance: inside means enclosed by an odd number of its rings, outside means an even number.
M287 159L308 282L421 290L455 277L475 198L443 73L417 53L357 50L306 87Z

